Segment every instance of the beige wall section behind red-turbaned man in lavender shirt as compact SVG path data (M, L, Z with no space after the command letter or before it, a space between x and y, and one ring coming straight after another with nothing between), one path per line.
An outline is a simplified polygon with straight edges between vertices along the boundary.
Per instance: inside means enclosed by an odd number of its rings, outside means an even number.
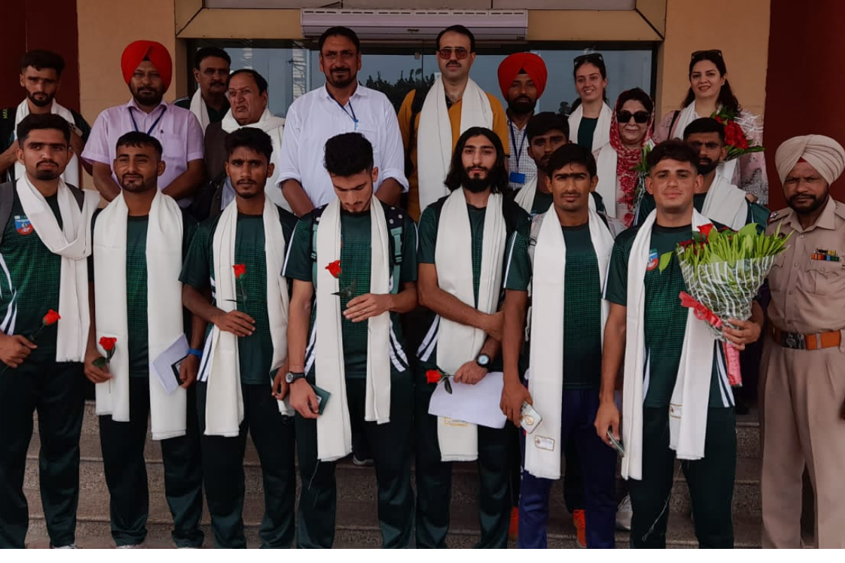
M170 51L173 80L165 99L175 99L177 82L185 82L186 69L184 51L176 51L173 2L141 0L130 6L123 0L78 0L79 106L89 122L93 123L106 107L129 100L120 56L123 48L135 40L159 41Z

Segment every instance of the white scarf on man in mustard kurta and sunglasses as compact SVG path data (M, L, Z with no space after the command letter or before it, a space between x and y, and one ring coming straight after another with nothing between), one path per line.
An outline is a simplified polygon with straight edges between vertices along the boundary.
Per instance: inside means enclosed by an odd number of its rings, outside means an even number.
M428 90L420 111L417 132L417 176L419 179L420 210L424 210L449 193L444 185L452 161L452 122L446 107L446 92L442 78L437 75ZM470 127L493 128L493 109L487 94L467 78L461 96L460 133Z

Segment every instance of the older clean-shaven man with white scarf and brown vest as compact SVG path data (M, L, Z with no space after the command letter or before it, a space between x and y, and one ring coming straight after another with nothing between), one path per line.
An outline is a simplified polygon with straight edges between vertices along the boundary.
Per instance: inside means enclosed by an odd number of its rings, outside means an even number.
M203 209L203 216L216 215L235 198L232 182L227 181L224 165L228 159L226 154L226 136L241 127L256 127L270 135L273 141L273 154L281 150L281 137L285 127L285 120L270 113L267 108L267 81L251 68L242 68L232 73L229 78L229 89L226 93L231 104L229 111L220 123L212 123L205 130L205 176L210 184L204 189L212 191L210 206ZM269 190L265 192L270 201L287 211L291 206L281 195L281 190L275 185L278 171L274 168L273 176L267 182ZM199 203L199 201L198 201ZM197 208L198 206L194 206ZM198 209L199 210L199 209Z

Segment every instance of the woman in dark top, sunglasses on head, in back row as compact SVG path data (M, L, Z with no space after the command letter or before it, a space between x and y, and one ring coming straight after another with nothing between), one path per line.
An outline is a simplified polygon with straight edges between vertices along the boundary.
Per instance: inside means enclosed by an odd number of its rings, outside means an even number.
M586 53L575 57L575 91L578 100L570 114L570 138L587 150L600 149L608 142L610 106L605 101L608 68L602 53Z

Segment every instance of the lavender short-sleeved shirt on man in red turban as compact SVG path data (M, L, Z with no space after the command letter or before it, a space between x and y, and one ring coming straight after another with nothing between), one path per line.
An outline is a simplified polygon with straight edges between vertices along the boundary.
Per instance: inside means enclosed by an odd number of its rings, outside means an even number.
M85 143L85 150L82 151L82 158L90 163L100 162L111 168L117 156L117 139L130 131L150 133L161 143L164 150L162 160L166 167L164 174L159 176L160 190L187 171L188 162L203 158L203 130L193 113L166 101L146 113L139 109L134 98L123 106L107 108L97 116L94 127L91 127L88 143ZM112 178L117 181L113 171ZM191 199L180 199L179 205L186 207Z

